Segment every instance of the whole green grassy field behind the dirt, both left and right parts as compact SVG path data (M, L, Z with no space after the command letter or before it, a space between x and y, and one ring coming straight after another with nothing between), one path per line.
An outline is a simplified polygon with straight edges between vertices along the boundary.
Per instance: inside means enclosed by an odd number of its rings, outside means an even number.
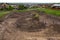
M54 10L50 8L31 8L31 9L24 9L24 10L14 10L15 12L26 12L30 10L38 10L38 11L45 11L46 14L60 16L60 10ZM3 17L5 14L8 14L10 11L0 11L0 17Z

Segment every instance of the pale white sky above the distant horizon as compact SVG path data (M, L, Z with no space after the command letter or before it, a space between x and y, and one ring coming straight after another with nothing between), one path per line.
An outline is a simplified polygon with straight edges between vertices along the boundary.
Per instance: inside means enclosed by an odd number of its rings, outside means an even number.
M0 3L60 3L60 0L0 0Z

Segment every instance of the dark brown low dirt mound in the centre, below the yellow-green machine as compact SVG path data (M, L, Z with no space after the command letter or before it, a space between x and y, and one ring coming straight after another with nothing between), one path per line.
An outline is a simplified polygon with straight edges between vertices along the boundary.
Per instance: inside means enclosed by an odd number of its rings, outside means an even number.
M33 22L31 18L19 18L16 25L22 31L39 31L46 27L43 22Z

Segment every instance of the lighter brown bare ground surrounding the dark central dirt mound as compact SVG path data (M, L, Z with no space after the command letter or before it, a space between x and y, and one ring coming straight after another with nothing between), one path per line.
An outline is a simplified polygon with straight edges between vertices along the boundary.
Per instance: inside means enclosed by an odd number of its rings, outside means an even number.
M44 13L40 14L39 21L45 23L46 28L42 28L39 31L28 32L21 31L17 28L17 20L19 19L23 22L24 18L26 18L28 21L31 18L30 13L32 13L32 11L24 13L13 12L13 14L7 15L5 20L0 24L0 40L60 40L60 33L52 30L56 25L60 27L60 17L46 15Z

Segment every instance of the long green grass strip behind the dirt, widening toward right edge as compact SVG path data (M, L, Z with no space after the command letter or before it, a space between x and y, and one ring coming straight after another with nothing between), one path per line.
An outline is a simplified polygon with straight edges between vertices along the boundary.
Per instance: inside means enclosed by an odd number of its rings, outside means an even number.
M17 10L17 11L18 12L26 12L26 11L30 11L30 10L44 11L46 14L60 16L60 10L54 10L54 9L50 9L50 8L35 8L35 9L31 8L31 9L27 9L27 10Z

